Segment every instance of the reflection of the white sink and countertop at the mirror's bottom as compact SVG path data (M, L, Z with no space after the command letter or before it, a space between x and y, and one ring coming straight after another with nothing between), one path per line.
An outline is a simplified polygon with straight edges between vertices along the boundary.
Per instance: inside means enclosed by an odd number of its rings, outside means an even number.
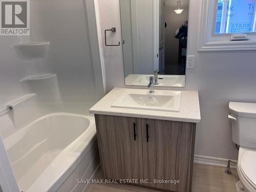
M132 83L133 86L147 86L150 76L153 75L139 75ZM155 86L172 86L184 87L184 75L158 75L158 84Z

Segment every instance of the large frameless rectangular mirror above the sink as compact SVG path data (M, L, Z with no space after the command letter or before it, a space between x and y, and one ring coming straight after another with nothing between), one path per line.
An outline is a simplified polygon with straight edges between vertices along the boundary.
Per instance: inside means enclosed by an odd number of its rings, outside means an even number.
M189 0L120 0L125 84L184 87Z

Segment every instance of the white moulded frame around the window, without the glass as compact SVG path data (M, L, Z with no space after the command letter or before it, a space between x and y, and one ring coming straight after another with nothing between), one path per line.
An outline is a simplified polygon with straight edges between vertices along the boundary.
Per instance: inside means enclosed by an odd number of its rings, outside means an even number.
M215 33L217 0L202 0L198 51L256 50L256 33L246 33L249 40L231 41L233 33ZM238 34L238 33L234 33Z

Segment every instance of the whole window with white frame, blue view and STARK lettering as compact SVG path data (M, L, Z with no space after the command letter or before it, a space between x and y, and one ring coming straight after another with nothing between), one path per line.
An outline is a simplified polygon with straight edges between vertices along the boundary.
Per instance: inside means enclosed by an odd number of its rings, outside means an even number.
M255 10L256 0L203 0L199 51L256 50Z

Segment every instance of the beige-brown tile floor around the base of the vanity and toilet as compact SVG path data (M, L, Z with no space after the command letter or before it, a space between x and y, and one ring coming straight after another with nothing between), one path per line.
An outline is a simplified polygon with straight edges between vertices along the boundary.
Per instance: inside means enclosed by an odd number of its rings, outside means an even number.
M194 164L191 192L235 192L234 184L239 180L237 171L232 169L232 175L226 175L225 169L225 167ZM93 184L90 192L157 192L157 190L122 184Z

